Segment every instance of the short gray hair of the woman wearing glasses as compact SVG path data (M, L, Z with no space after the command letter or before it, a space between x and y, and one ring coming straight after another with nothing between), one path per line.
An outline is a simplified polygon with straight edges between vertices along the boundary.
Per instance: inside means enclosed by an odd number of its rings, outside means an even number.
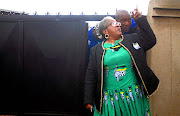
M99 22L99 24L97 25L98 35L101 35L104 37L104 34L102 31L107 28L109 20L114 20L114 18L111 16L106 16Z

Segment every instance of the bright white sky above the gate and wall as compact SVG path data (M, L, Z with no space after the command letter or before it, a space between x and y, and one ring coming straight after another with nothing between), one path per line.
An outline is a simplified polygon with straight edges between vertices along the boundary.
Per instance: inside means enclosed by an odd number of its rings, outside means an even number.
M114 15L116 9L132 11L138 6L147 14L150 0L0 0L0 9L24 11L33 15Z

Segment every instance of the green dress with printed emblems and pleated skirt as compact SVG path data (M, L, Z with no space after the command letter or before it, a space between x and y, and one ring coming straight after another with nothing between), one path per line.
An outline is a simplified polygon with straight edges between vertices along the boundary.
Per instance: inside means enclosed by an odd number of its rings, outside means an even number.
M137 81L131 56L119 41L104 43L102 114L94 107L94 116L150 116L149 101Z

